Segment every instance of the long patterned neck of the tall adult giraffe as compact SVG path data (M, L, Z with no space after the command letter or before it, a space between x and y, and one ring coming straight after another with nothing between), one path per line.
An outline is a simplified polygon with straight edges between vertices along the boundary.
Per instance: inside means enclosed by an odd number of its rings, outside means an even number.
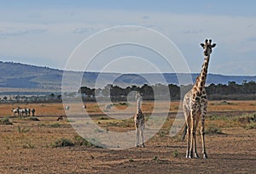
M205 56L204 63L202 65L200 76L198 76L198 81L196 82L197 90L201 91L205 87L207 81L207 70L209 65L210 55Z

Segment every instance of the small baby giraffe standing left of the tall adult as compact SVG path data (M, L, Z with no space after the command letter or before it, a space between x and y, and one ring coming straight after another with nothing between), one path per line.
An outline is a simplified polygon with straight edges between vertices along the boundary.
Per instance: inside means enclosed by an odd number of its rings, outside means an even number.
M137 100L137 112L134 115L134 123L136 127L136 146L139 147L139 140L141 138L142 144L141 147L145 147L144 145L144 139L143 139L143 130L144 130L144 115L143 111L141 109L141 101L142 101L142 95L141 93L136 93L135 98Z

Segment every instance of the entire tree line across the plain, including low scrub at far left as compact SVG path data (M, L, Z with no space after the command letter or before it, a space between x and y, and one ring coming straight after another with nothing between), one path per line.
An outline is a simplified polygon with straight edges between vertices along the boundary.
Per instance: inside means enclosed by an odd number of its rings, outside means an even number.
M187 93L193 86L173 84L162 85L156 84L149 86L144 84L142 87L135 85L131 87L119 87L108 84L103 88L80 87L78 92L68 93L70 98L81 98L84 102L95 102L96 98L111 98L113 102L127 101L127 96L133 91L143 93L143 100L180 100L183 94ZM209 100L255 100L256 99L256 82L244 81L237 84L230 81L228 84L210 84L206 87L207 97ZM170 93L170 96L168 95ZM132 97L132 96L130 96ZM155 98L157 97L157 98ZM134 98L132 98L134 99ZM0 97L0 103L61 103L62 96L58 93L46 95L15 95Z

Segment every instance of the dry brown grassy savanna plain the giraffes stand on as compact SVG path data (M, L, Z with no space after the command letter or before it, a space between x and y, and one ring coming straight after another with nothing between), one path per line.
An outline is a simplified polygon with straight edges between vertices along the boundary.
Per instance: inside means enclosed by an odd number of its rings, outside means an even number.
M90 119L108 132L135 130L133 115L136 104L87 103ZM186 159L186 138L182 131L170 136L177 115L178 102L160 101L142 105L146 120L153 111L166 121L145 148L101 148L97 138L90 143L73 129L63 104L1 104L0 105L0 173L255 173L256 171L256 101L210 101L206 118L208 159L202 159L198 126L198 159ZM13 115L12 108L34 108L35 116ZM83 104L70 105L82 109ZM168 110L165 113L163 110ZM106 114L107 113L107 114ZM111 115L130 118L116 120ZM72 113L71 113L72 114ZM62 115L62 120L57 118ZM86 126L86 125L84 125ZM134 144L136 139L134 136Z

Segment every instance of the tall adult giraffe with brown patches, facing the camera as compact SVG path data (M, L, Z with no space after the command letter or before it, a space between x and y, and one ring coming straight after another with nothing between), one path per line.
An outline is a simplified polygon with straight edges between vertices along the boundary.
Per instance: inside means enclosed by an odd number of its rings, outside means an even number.
M193 158L193 150L195 158L198 158L198 154L196 152L195 131L201 118L202 154L203 158L207 159L207 152L205 146L205 117L207 115L207 93L205 84L207 81L207 70L210 61L210 54L212 53L212 48L214 48L215 46L216 43L212 44L212 40L206 40L205 43L201 43L201 47L204 49L203 54L205 56L205 60L201 69L201 74L196 78L195 85L188 93L185 94L183 99L183 113L185 116L188 132L186 158Z

